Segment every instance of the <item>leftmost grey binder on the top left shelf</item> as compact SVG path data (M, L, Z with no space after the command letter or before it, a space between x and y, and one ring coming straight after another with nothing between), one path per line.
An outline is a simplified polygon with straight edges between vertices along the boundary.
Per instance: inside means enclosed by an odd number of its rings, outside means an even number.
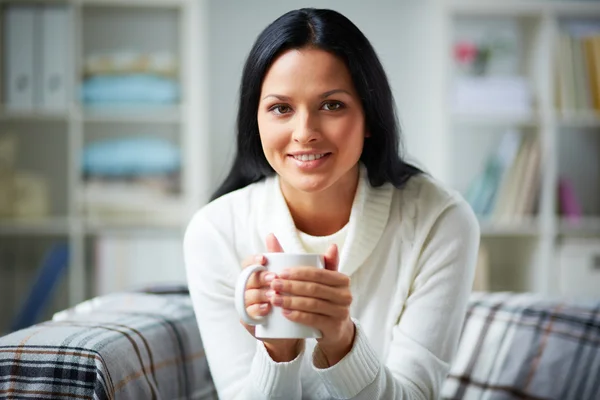
M32 110L36 103L36 30L39 11L35 6L10 6L6 9L4 35L5 94L8 111Z

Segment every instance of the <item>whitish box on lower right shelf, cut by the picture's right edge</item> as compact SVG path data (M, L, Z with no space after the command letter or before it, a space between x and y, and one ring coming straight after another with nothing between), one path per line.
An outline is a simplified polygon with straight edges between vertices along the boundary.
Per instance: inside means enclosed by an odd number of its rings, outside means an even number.
M560 294L569 297L600 297L600 240L569 239L559 250Z

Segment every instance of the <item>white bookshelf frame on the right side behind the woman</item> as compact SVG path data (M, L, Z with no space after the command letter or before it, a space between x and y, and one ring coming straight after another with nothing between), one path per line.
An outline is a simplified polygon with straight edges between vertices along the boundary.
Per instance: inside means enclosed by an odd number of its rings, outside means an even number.
M448 51L440 69L444 74L440 94L449 100L440 115L444 121L439 146L443 148L441 168L447 171L445 180L464 192L497 145L500 132L506 128L518 129L525 136L536 136L542 149L543 166L537 213L515 222L482 219L482 243L490 252L492 290L561 294L557 276L562 243L579 237L600 239L600 168L595 170L598 163L594 160L594 157L600 159L600 115L585 110L563 112L555 107L556 41L565 21L584 19L600 25L600 3L446 0L441 9L443 29L439 35ZM523 46L519 49L518 72L530 84L533 111L515 115L455 113L450 101L456 76L452 54L454 39L467 29L465 25L497 20L511 21L518 31L519 43ZM574 181L575 192L582 203L584 215L575 222L556 211L557 186L562 174ZM600 296L600 286L597 294Z

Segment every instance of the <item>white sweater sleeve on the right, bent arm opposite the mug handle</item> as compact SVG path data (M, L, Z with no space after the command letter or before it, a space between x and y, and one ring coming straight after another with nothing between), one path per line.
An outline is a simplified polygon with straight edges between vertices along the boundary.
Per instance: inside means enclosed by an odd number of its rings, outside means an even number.
M354 345L340 362L313 369L336 399L437 399L454 357L473 284L479 225L459 202L446 209L420 249L404 311L390 333L387 359L378 359L355 321Z

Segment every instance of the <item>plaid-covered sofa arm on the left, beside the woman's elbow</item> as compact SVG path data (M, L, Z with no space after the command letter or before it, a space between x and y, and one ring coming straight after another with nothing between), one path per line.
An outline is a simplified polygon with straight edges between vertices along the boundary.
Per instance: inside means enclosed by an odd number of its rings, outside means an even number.
M123 293L0 338L0 398L216 399L190 299Z

